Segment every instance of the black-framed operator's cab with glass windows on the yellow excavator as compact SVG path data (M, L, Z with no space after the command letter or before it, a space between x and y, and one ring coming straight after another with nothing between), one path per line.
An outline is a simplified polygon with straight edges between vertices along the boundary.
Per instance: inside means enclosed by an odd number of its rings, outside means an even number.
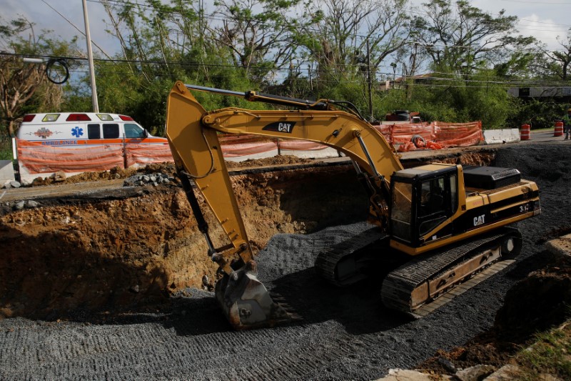
M423 245L423 237L458 210L456 166L430 164L403 169L393 174L390 187L390 234L407 246ZM438 237L442 235L438 232Z

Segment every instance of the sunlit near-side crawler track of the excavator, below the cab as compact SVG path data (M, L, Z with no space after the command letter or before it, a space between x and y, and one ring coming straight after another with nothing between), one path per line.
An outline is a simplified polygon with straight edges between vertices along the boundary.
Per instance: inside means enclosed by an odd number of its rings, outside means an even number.
M520 253L519 230L500 232L418 257L390 272L383 281L383 304L423 317L501 271Z

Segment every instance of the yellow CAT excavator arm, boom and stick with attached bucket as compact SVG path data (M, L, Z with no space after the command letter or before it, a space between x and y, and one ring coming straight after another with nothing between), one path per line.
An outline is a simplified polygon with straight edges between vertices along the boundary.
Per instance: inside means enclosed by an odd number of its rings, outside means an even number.
M207 112L193 97L191 89L302 109L254 111L230 107ZM382 134L357 112L340 111L332 101L310 102L254 91L236 93L180 81L174 84L167 102L166 136L198 227L206 238L208 254L224 273L217 284L216 297L228 320L238 329L288 321L290 314L271 301L256 278L256 263L224 162L219 132L303 139L338 149L353 159L355 167L363 169L372 214L384 227L388 217L390 176L403 167ZM231 242L228 246L213 247L191 182L196 184L228 236Z

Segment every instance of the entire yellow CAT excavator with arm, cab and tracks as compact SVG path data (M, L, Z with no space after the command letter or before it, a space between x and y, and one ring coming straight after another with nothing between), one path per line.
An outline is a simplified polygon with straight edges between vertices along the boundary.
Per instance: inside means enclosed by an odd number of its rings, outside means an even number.
M207 112L191 91L286 109L228 107ZM454 164L403 169L383 135L350 102L314 102L177 81L168 96L166 136L208 255L222 275L216 299L238 330L290 322L296 316L273 300L256 277L220 133L303 139L349 157L368 192L369 220L385 233L385 243L378 244L378 232L359 234L320 253L315 268L333 284L345 285L363 278L371 256L398 258L399 265L384 275L381 299L387 307L412 315L430 313L513 262L522 235L507 225L541 211L537 185L521 179L517 169ZM213 246L194 188L226 233L226 246Z

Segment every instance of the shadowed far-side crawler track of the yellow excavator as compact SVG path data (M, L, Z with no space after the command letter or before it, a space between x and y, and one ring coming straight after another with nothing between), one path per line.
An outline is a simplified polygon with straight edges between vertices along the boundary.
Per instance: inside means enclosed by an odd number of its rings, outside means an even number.
M366 247L370 247L383 237L385 234L378 227L373 227L332 247L327 247L315 258L315 270L328 282L339 287L365 279L367 276L360 272L360 268L363 267L363 261L360 259L369 254Z

